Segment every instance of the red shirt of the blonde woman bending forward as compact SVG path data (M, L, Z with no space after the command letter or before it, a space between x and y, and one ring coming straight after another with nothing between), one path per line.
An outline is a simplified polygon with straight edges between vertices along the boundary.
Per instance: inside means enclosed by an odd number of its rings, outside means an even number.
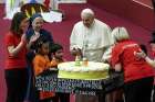
M153 77L153 68L143 58L137 58L134 52L141 47L133 41L123 41L112 49L112 66L121 63L124 70L124 81L133 81L141 78Z

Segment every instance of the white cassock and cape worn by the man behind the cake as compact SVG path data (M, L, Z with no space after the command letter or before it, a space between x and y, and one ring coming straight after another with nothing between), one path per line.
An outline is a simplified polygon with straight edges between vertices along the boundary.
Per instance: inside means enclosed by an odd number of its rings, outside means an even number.
M105 23L94 20L87 29L83 22L78 22L70 36L70 50L74 47L82 49L82 54L90 61L105 61L110 58L110 46L114 44L111 29Z

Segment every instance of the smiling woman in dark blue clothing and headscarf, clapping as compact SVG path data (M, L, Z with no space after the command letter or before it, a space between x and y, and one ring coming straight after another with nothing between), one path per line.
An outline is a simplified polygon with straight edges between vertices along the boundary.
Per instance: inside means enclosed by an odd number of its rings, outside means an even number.
M42 27L43 23L44 21L41 14L35 13L30 18L30 26L27 31L27 42L28 42L27 47L29 49L29 53L27 54L29 87L28 87L25 100L31 100L32 102L37 102L37 100L39 99L38 95L35 94L35 88L33 84L33 66L32 66L32 60L35 56L34 49L37 46L35 45L37 39L40 37L44 37L51 44L53 43L52 34Z

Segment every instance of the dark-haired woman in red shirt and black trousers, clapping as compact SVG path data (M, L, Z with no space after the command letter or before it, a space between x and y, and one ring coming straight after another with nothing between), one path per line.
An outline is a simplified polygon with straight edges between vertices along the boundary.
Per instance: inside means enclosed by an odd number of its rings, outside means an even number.
M10 31L6 34L6 82L7 101L23 102L27 89L27 64L25 64L25 34L28 27L27 15L22 12L14 14Z

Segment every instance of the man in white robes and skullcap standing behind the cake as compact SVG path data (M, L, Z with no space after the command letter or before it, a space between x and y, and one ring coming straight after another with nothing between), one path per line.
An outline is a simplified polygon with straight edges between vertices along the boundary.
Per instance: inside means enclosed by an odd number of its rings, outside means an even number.
M72 55L85 57L89 61L108 61L111 46L114 41L111 27L95 19L91 9L81 12L82 21L74 24L70 36L70 52ZM96 101L97 97L76 95L78 102Z

